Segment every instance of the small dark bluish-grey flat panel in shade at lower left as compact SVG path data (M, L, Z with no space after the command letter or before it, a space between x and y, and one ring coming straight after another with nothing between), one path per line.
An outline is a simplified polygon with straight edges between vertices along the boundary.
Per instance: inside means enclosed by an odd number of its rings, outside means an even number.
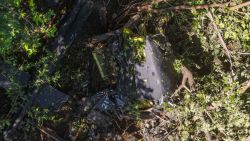
M35 104L41 108L58 110L60 106L68 101L69 96L58 91L50 85L44 85L38 92Z

